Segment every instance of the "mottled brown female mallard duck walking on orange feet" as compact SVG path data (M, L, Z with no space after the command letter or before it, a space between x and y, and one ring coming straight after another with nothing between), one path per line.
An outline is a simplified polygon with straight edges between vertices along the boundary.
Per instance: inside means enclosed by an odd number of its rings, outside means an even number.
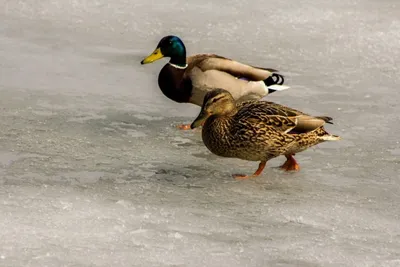
M267 161L280 155L287 159L282 169L299 170L293 158L295 153L324 141L340 139L323 128L331 120L330 117L312 117L272 102L247 101L236 105L229 92L216 89L206 94L201 112L191 128L205 121L203 142L218 156L261 161L253 175L235 175L238 179L246 179L260 175Z

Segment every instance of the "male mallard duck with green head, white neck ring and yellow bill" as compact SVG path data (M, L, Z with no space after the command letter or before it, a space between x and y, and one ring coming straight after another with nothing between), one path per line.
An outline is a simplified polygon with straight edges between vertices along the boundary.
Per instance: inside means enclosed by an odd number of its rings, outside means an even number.
M283 85L284 77L275 69L254 67L215 54L186 57L183 41L174 35L163 37L141 64L164 57L170 60L158 75L158 86L167 98L177 103L201 107L205 94L215 88L229 91L237 102L258 100L289 88ZM190 129L190 124L180 128Z

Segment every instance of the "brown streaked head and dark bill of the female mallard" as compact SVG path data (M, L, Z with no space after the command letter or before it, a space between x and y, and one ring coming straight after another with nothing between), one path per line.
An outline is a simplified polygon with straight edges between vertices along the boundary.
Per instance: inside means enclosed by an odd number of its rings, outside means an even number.
M190 125L190 128L199 127L211 115L224 116L232 114L235 110L235 100L228 91L224 89L212 90L205 95L200 114Z

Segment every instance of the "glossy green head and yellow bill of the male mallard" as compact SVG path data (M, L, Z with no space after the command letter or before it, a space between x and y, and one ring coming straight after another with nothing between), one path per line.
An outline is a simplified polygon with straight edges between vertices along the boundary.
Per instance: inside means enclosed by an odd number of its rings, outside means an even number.
M163 57L171 58L169 62L172 64L182 67L186 65L186 48L179 37L169 35L162 38L154 52L143 59L141 63L152 63Z

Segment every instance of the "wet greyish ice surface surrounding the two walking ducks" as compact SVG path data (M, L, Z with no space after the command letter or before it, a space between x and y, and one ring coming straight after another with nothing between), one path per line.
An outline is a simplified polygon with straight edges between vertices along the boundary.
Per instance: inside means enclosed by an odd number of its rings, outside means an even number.
M400 266L396 0L0 0L0 266ZM166 99L188 52L280 69L270 99L334 117L296 156L222 159Z

